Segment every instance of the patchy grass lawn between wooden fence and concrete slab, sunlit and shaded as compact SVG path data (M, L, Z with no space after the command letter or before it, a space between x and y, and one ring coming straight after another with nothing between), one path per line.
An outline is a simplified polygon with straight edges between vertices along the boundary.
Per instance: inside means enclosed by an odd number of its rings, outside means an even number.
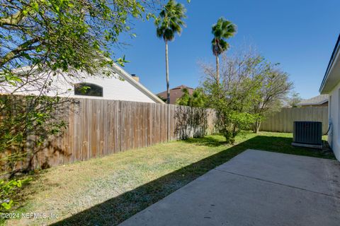
M57 219L6 224L117 225L249 148L334 158L293 148L291 133L246 133L235 145L224 141L222 136L174 141L42 170L26 186L26 203L16 211L52 213Z

